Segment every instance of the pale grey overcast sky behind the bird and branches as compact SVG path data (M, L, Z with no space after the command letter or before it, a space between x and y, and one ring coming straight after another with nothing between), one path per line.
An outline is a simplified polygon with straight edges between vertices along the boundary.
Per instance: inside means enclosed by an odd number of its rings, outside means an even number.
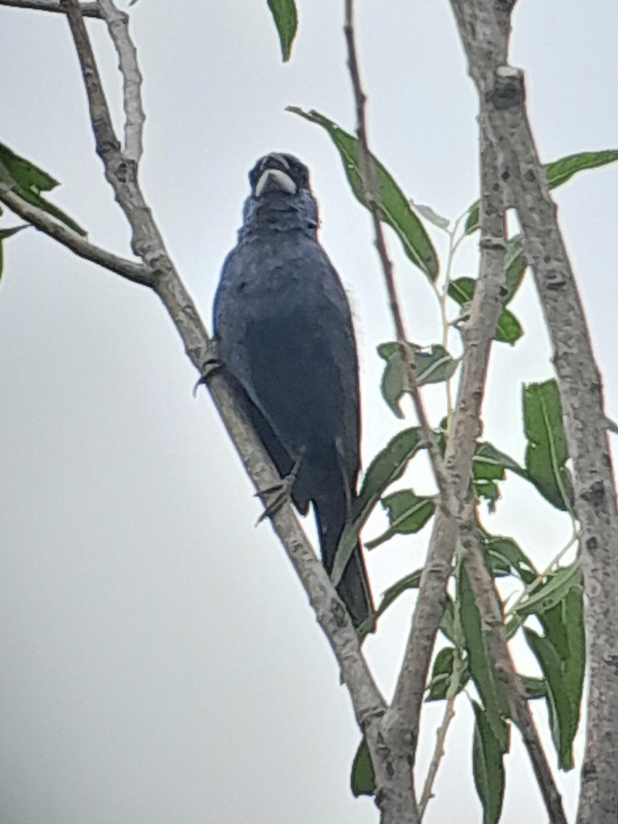
M145 78L143 185L210 327L247 171L274 150L307 162L321 241L356 319L367 463L414 419L407 407L406 421L395 419L379 394L375 348L392 338L392 325L368 215L325 133L284 111L315 108L353 129L343 3L299 5L286 65L265 0L132 8ZM0 141L62 181L54 202L92 241L128 254L66 21L6 7L0 18ZM513 22L512 62L527 74L542 159L617 147L616 3L596 0L584 12L580 0L520 0ZM104 24L89 28L119 114L115 54ZM456 218L478 196L477 103L448 3L365 0L358 30L372 147L410 197ZM617 191L618 168L607 167L556 193L614 418ZM388 240L410 337L437 342L433 294ZM191 397L195 375L165 311L143 288L34 231L10 240L5 259L0 821L377 821L372 801L349 793L358 729L330 650L269 525L254 528L259 503L206 392ZM473 239L455 274L474 272ZM550 349L531 279L512 308L526 335L513 349L494 347L485 433L521 460L521 384L551 376ZM427 396L437 423L442 391ZM406 485L432 491L422 466ZM541 566L569 537L569 519L515 478L485 522ZM365 539L383 526L378 514ZM369 555L376 597L422 564L427 538L428 530ZM386 695L412 606L413 596L402 598L366 644ZM450 820L453 805L458 821L480 820L465 696L456 709L428 824ZM424 714L420 765L441 712L432 705ZM542 707L538 717L546 728ZM573 812L577 775L559 783ZM513 734L503 822L525 816L545 820Z

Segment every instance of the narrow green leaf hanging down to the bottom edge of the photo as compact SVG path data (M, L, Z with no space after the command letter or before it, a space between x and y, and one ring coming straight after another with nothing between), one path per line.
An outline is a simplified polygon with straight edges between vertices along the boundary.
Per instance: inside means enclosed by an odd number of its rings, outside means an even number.
M497 824L504 798L503 756L508 751L508 724L503 723L503 732L496 736L487 711L476 701L472 701L472 706L475 711L472 771L476 792L483 805L483 824Z

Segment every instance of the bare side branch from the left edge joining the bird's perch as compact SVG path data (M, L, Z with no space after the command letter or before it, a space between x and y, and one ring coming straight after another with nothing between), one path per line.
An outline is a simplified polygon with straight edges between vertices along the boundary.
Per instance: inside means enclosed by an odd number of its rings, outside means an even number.
M49 214L42 209L26 203L26 200L22 200L18 194L12 191L10 186L2 183L2 181L0 181L0 202L8 206L20 218L30 223L30 226L35 227L35 229L49 237L53 237L54 241L62 243L63 246L75 252L79 257L91 260L92 263L96 263L104 269L110 269L111 272L132 280L133 283L140 283L142 286L152 286L154 283L152 269L148 269L143 263L126 260L119 257L119 255L113 255L111 252L95 246L87 241L85 237L73 232L73 229L69 229L63 226L62 223L55 221L54 218L50 218Z

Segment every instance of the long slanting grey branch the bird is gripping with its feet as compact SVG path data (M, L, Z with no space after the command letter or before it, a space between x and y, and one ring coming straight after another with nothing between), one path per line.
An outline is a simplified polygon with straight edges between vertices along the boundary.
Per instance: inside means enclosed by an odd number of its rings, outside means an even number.
M137 179L138 163L127 160L120 152L79 3L77 0L62 0L62 5L67 12L82 67L96 151L103 162L105 177L133 231L133 250L152 269L153 289L171 316L191 363L203 375L208 363L212 363L213 342L167 254L152 212L143 199ZM259 492L280 482L265 447L236 410L222 373L215 370L208 377L206 386L255 489ZM377 756L378 724L386 705L363 657L348 611L323 565L316 559L292 507L283 506L270 520L325 631L339 663L342 679L349 689L358 723L367 737L372 755Z

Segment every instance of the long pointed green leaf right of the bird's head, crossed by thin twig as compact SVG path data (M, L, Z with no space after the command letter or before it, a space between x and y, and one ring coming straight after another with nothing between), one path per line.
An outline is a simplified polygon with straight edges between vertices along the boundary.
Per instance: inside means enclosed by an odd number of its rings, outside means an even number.
M309 120L310 123L320 125L329 133L339 151L354 196L363 206L367 206L358 167L358 138L354 138L353 135L339 129L336 123L317 111L306 112L297 106L288 106L288 111ZM373 155L370 156L370 159L373 163L374 176L377 182L376 197L380 208L380 217L395 230L404 247L405 254L412 263L418 266L433 282L438 277L438 255L433 249L433 244L429 240L423 224L414 213L408 199L400 190L390 172Z

